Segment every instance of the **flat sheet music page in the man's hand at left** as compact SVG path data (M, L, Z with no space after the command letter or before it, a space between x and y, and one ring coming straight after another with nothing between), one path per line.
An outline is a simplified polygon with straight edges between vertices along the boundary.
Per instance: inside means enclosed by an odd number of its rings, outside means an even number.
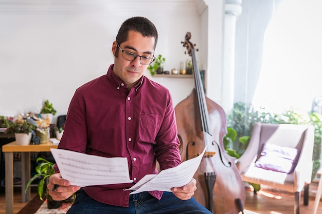
M63 179L71 185L132 183L127 158L104 158L65 149L50 149Z

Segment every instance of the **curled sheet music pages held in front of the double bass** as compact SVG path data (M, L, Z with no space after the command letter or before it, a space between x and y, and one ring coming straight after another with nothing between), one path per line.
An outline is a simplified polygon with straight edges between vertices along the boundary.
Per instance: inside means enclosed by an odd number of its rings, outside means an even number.
M135 194L143 191L171 191L172 187L181 187L189 183L193 174L198 169L204 151L193 159L187 160L180 165L160 171L158 174L147 174L134 186L126 190L135 190L130 194Z

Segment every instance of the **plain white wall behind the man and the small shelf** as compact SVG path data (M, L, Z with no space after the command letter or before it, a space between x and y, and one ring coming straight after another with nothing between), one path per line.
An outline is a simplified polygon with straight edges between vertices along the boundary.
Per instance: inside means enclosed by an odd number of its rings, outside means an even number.
M113 63L112 43L121 23L131 16L146 16L157 27L155 55L166 58L166 70L190 59L181 44L190 31L191 42L204 48L197 53L203 56L198 60L200 69L207 70L210 64L220 72L220 57L210 62L205 57L209 49L218 56L221 41L211 42L216 49L204 41L208 35L204 11L214 10L205 10L203 0L12 2L19 4L0 3L0 115L39 111L45 99L53 103L57 115L65 114L75 89L105 74ZM222 5L219 0L205 2L211 7ZM221 23L208 22L213 24L210 35L221 34ZM194 87L193 79L151 77L149 71L146 75L169 88L174 105Z

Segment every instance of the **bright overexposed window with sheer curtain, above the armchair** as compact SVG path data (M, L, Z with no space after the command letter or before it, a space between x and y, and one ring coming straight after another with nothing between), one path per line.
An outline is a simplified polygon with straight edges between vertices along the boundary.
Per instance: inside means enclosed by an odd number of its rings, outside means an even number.
M319 0L243 1L235 102L272 111L311 110L312 100L322 95L321 9Z

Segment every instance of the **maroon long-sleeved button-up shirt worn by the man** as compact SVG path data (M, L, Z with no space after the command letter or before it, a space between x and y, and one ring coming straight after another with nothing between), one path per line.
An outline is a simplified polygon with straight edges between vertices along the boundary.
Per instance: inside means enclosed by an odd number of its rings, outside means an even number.
M175 114L170 92L142 76L129 92L113 73L79 87L71 99L64 134L58 148L102 157L126 157L130 179L138 182L146 174L157 173L181 163ZM59 170L56 167L56 171ZM113 184L84 187L96 201L129 206L134 185ZM162 191L150 192L155 198Z

